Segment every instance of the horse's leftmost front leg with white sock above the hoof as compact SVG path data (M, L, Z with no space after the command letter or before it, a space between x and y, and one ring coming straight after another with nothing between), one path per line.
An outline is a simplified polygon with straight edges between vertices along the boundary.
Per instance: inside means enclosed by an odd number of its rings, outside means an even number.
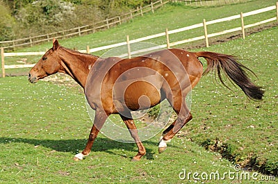
M97 135L99 134L99 131L104 125L104 122L106 121L107 117L108 115L106 114L106 112L98 110L96 111L94 124L92 125L92 129L86 147L81 153L78 153L74 156L74 160L83 160L85 156L88 156L90 154L92 144L94 144L94 141L97 138Z

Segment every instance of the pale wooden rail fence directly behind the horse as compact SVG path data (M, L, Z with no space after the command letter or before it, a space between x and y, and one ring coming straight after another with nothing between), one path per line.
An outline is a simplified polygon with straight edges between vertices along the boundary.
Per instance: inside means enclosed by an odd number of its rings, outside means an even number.
M270 19L265 19L261 22L256 22L254 24L248 24L248 25L244 24L244 17L248 17L248 16L251 16L251 15L257 15L259 13L268 12L270 10L275 10L275 9L276 9L276 12L277 12L277 15L275 17L272 17ZM236 28L231 28L229 30L224 30L224 31L221 31L221 32L218 32L218 33L208 34L208 30L206 28L207 25L216 24L216 23L220 23L220 22L229 22L233 19L241 19L241 26L236 27ZM253 26L259 26L261 24L265 24L265 23L268 23L268 22L274 22L275 20L278 22L278 2L276 3L276 6L269 6L267 8L261 8L259 10L254 10L254 11L251 11L251 12L245 12L245 13L241 12L240 15L234 15L234 16L231 16L231 17L224 17L222 19L215 19L215 20L211 20L211 21L208 21L208 22L206 22L206 20L204 19L204 21L202 23L194 24L194 25L191 25L191 26L186 26L186 27L183 27L183 28L177 28L177 29L170 30L170 31L168 31L168 29L166 28L165 32L163 32L163 33L157 33L155 35L140 37L136 40L129 40L129 36L127 35L126 36L126 42L120 42L120 43L117 43L117 44L110 44L110 45L106 45L106 46L103 46L103 47L97 47L97 48L93 48L93 49L90 49L89 47L87 47L85 50L79 50L79 51L83 52L83 53L93 53L93 52L101 51L101 50L104 50L104 49L112 49L112 48L115 48L115 47L120 47L120 46L123 46L123 45L127 45L127 49L126 49L127 53L120 56L120 57L128 56L130 58L133 54L136 54L136 53L142 53L142 52L146 52L146 51L153 51L153 50L161 49L161 48L170 48L170 47L173 47L173 46L176 46L176 45L179 45L179 44L184 44L184 43L187 43L187 42L193 42L193 41L196 41L196 40L205 40L206 47L209 47L209 42L208 42L209 37L215 37L215 36L218 36L218 35L224 35L224 34L227 34L227 33L242 31L243 39L245 39L245 28L251 28ZM170 40L169 40L169 35L170 34L180 33L180 32L183 32L183 31L188 31L188 30L191 30L191 29L194 29L194 28L200 28L200 27L204 27L204 35L202 35L202 36L193 37L193 38L189 38L189 39L186 39L186 40L180 40L180 41L177 41L177 42L170 42ZM165 44L158 45L158 46L152 47L152 48L133 51L133 52L131 52L131 50L128 49L128 48L130 48L129 44L136 43L136 42L142 42L142 41L145 41L145 40L150 40L152 38L163 37L163 36L165 36L165 42L166 42ZM5 57L35 56L35 55L42 56L44 53L45 52L5 53L4 49L2 47L1 48L2 76L5 77L5 69L19 68L19 67L20 68L33 67L33 65L5 65L5 61L4 61Z

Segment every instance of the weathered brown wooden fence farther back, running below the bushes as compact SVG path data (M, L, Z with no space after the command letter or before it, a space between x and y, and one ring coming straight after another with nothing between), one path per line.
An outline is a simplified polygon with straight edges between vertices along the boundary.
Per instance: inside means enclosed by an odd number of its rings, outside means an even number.
M79 26L76 28L71 28L63 31L58 31L54 33L44 34L44 35L37 35L33 37L25 37L22 39L11 40L11 41L3 41L0 42L1 47L4 49L7 48L15 48L15 47L23 47L23 46L33 46L33 44L39 44L42 42L50 42L53 37L55 38L66 38L66 37L73 37L73 36L81 36L84 33L95 33L98 30L103 30L106 28L111 28L113 26L117 26L124 22L133 19L133 17L143 16L146 12L154 13L154 10L160 8L165 3L169 1L158 0L154 3L149 4L148 6L140 6L136 10L132 10L124 15L105 19L101 22L95 22L95 24Z

